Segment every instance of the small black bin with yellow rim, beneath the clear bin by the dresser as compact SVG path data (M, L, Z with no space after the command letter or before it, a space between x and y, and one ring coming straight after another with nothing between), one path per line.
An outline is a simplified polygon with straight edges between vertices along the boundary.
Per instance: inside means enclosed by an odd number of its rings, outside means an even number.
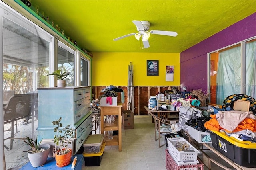
M102 160L104 148L106 143L104 142L99 153L83 153L84 156L84 165L85 166L100 166Z

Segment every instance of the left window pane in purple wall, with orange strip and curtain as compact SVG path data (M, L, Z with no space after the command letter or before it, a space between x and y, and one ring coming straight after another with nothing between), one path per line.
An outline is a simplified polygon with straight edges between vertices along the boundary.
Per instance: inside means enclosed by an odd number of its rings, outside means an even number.
M241 64L240 44L210 54L210 103L241 92Z

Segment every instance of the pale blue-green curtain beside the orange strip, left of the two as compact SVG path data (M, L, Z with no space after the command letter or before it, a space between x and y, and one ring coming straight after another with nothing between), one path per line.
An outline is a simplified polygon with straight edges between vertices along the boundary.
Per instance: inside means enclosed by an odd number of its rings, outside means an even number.
M220 52L218 61L216 104L222 105L226 97L240 93L241 47Z

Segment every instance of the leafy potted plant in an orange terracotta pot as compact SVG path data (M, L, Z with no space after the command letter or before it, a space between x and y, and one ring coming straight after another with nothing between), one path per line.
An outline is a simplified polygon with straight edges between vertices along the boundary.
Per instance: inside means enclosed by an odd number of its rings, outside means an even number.
M54 135L54 157L56 159L56 165L58 167L67 166L71 161L72 149L68 147L70 144L70 139L74 138L75 127L70 127L67 125L62 128L62 123L60 123L60 119L53 121L53 125L57 125L54 127L54 132L57 134Z

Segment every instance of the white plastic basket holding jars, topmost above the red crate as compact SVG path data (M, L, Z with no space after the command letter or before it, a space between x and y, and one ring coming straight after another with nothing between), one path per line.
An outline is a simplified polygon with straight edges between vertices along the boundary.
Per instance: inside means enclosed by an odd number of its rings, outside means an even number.
M183 137L167 138L167 141L169 146L168 147L169 153L172 153L178 161L197 160L197 154L199 153L199 151L195 147L193 147L188 141L186 141L186 139L184 139ZM178 151L178 149L176 149L176 147L172 144L172 141L186 141L186 143L190 147L193 147L194 150Z

